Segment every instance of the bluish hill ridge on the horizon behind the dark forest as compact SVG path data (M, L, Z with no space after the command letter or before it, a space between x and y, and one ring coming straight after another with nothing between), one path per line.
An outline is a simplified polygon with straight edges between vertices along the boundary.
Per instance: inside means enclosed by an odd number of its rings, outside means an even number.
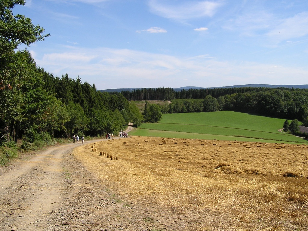
M207 89L207 88L239 88L239 87L269 87L269 88L277 88L277 87L286 87L286 88L299 88L299 89L308 89L308 84L304 85L270 85L270 84L245 84L245 85L234 85L234 86L226 86L226 87L179 87L173 88L174 91L182 91L183 89ZM150 88L150 87L147 87ZM121 91L134 91L137 89L143 88L116 88L116 89L106 89L100 91L106 92L121 92Z

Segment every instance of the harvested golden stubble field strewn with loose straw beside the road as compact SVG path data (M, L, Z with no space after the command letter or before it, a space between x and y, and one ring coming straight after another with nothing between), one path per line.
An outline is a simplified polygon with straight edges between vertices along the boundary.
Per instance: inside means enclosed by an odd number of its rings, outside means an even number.
M125 142L98 143L98 152L80 147L74 155L121 197L185 213L195 230L308 230L306 145L150 137Z

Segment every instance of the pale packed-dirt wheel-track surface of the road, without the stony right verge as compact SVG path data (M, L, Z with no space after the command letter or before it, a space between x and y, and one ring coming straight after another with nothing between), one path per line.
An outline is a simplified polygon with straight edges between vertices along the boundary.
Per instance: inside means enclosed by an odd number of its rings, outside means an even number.
M49 148L1 174L0 230L42 230L46 215L60 203L63 156L76 144Z

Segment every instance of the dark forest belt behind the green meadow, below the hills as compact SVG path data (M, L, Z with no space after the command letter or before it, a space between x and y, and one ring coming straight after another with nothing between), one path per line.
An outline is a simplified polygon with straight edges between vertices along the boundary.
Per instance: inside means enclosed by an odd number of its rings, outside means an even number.
M297 119L308 125L308 89L239 87L174 91L144 88L122 91L128 100L170 100L163 113L238 111L277 118Z

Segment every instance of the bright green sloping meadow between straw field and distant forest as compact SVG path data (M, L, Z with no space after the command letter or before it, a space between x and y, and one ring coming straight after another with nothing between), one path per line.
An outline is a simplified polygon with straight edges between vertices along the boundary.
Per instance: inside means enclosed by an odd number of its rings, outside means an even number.
M205 140L308 143L282 129L284 119L234 111L164 114L159 123L145 123L133 136L177 137Z

